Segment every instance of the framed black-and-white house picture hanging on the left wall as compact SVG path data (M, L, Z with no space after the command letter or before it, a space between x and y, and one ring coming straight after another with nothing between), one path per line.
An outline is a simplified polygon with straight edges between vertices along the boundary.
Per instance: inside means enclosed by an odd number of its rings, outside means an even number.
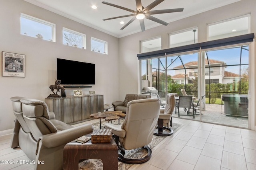
M25 55L3 51L2 76L25 77Z

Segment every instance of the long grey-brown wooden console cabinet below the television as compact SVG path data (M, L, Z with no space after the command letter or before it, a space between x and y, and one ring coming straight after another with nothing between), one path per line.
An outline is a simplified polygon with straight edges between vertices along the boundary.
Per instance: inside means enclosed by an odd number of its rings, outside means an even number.
M90 114L103 111L103 95L77 96L66 98L46 98L49 111L55 113L57 120L67 124L90 119Z

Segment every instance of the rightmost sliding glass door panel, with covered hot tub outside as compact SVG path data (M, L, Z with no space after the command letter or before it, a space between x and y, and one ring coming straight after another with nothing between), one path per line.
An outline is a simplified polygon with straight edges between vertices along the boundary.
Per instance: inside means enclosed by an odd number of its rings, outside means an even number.
M202 51L205 111L202 121L248 128L248 45Z

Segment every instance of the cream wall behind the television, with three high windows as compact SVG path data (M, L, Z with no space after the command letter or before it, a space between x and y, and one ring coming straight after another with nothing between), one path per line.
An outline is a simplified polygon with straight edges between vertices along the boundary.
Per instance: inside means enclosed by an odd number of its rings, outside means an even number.
M14 3L15 2L15 3ZM20 35L20 13L56 24L56 42ZM87 49L62 44L62 27L86 34ZM90 51L90 37L108 42L108 55ZM56 78L56 58L96 64L96 84L90 90L104 95L104 103L118 100L118 38L44 10L23 0L0 1L0 51L26 55L26 77L0 75L0 131L14 127L12 96L45 101ZM2 63L2 62L1 62ZM86 77L86 74L81 76ZM83 89L88 91L89 89Z

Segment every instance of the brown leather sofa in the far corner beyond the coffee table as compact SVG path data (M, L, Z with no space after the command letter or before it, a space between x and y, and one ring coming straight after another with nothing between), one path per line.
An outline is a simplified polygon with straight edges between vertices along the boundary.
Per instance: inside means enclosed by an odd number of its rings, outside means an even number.
M126 113L126 107L128 102L132 100L146 99L151 98L150 95L146 94L126 94L124 101L113 102L114 110L120 110L123 113Z

